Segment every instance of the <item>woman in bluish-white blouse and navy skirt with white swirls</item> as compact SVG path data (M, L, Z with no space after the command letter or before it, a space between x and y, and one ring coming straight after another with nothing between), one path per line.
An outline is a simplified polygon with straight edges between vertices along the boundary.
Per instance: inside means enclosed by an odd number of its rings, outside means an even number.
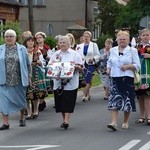
M119 31L117 41L118 46L110 49L110 56L107 61L107 73L111 77L108 99L111 123L107 127L113 131L117 130L118 111L124 112L122 128L129 128L130 112L136 111L133 71L139 71L141 67L137 49L128 46L129 33Z

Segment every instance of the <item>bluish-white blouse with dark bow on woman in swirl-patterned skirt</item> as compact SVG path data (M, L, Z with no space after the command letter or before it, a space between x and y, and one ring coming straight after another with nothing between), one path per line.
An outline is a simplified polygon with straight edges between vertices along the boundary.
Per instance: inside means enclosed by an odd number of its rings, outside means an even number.
M133 64L137 71L140 70L141 64L137 49L127 46L123 51L123 55L120 56L118 46L110 49L110 56L107 61L107 67L111 69L110 70L111 77L123 77L123 76L134 77L132 70L122 71L120 69L122 65L129 65L129 64Z

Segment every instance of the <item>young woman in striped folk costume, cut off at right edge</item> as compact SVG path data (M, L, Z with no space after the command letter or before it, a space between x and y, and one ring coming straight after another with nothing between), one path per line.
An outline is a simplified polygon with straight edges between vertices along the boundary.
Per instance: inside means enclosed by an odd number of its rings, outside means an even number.
M139 100L140 116L136 123L150 125L150 30L143 29L139 32L141 42L138 44L138 53L141 62L141 82L136 85L136 93Z

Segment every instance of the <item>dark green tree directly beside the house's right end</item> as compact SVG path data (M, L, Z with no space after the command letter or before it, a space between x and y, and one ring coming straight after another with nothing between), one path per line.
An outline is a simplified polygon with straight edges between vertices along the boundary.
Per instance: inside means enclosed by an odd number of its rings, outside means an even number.
M121 5L116 0L99 0L98 6L100 11L98 18L102 20L102 34L114 36L115 21Z

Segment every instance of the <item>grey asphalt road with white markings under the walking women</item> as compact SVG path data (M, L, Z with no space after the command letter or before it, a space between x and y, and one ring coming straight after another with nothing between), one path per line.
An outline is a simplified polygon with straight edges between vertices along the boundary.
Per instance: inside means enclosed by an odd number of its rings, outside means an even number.
M103 89L92 88L91 101L83 103L81 92L68 130L60 128L61 115L53 108L53 99L35 120L19 127L19 113L10 117L10 129L0 131L0 150L150 150L150 127L135 124L137 112L130 116L130 128L121 129L123 113L119 112L118 131L107 128L110 112L103 100ZM2 124L2 122L0 123Z

